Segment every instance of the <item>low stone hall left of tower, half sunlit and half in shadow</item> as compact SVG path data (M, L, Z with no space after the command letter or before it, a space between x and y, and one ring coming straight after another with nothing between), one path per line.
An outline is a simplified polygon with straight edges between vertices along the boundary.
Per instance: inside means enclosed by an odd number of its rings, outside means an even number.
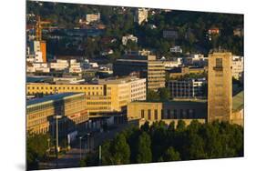
M170 101L165 103L156 102L132 102L128 104L128 121L139 120L164 121L169 124L171 121L184 120L189 124L193 119L206 122L207 101Z

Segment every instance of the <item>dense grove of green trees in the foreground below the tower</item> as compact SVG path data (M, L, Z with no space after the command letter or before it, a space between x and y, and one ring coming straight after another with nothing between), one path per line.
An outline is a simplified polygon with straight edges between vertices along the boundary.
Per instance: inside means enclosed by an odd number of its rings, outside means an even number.
M85 158L84 166L97 166L98 152ZM94 157L93 157L94 156ZM179 120L130 127L102 145L101 165L137 164L243 156L243 128L227 122L186 126ZM93 159L92 159L93 158Z

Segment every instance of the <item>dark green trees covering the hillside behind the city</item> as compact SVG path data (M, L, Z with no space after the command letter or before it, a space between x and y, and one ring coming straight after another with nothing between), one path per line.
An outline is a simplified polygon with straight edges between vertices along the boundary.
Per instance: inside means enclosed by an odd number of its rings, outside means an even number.
M169 58L179 55L169 52L169 48L173 45L180 45L184 53L208 55L210 49L221 46L235 55L243 55L243 36L233 35L233 29L243 26L243 15L175 10L164 12L154 9L158 13L155 15L149 13L148 23L138 25L134 22L135 9L126 8L126 11L122 11L122 8L117 6L27 2L27 13L41 15L43 19L52 20L56 25L66 28L77 26L78 20L85 18L87 14L99 12L101 23L107 27L105 34L100 35L93 42L89 38L82 41L81 45L86 47L83 52L76 52L76 48L72 49L75 54L87 55L88 58L100 56L100 50L106 48L112 48L115 52L114 55L107 56L109 61L117 59L125 50L142 48L153 50L159 57L164 55ZM156 28L150 25L156 25ZM212 35L209 40L207 33L211 27L220 28L220 35ZM163 30L169 29L176 30L178 38L164 38ZM138 36L138 44L121 45L121 37L127 34ZM118 41L103 45L100 39L104 37L115 37ZM66 51L61 49L60 52Z

